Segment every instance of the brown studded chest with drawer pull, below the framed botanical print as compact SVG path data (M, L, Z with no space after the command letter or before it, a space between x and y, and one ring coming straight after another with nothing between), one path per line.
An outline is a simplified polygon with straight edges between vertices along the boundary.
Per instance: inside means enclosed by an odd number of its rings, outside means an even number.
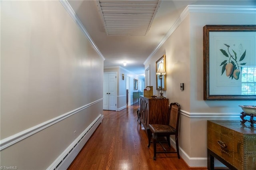
M239 121L207 121L208 169L217 158L231 169L256 170L256 128Z

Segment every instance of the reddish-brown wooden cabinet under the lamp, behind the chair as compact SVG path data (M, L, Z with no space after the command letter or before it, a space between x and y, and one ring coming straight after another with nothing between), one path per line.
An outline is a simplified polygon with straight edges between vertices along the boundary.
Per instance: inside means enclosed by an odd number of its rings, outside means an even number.
M168 99L140 96L140 124L145 129L149 124L168 124Z

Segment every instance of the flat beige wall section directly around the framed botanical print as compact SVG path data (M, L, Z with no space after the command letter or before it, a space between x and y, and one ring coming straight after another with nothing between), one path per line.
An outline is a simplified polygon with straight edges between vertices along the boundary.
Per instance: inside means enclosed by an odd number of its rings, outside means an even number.
M211 18L209 20L209 18ZM232 18L236 18L235 20ZM192 13L190 14L190 45L191 45L191 95L190 112L191 113L240 113L242 110L238 105L256 105L256 101L204 101L203 100L203 34L202 28L205 25L252 25L256 24L256 14L233 14L233 13ZM192 81L192 79L194 81ZM236 119L237 118L216 118L209 119ZM206 157L206 120L205 118L193 118L190 122L192 148L190 155L192 157ZM204 128L202 128L204 127ZM202 134L205 134L202 136ZM200 140L199 140L200 139ZM204 148L202 150L202 147ZM200 152L198 152L200 150Z

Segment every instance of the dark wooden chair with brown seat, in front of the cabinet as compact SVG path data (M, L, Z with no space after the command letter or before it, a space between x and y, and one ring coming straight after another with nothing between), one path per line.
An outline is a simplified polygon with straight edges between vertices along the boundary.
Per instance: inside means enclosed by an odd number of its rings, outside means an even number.
M179 120L180 120L180 105L178 103L171 103L169 106L169 125L158 125L152 124L148 125L148 148L150 147L151 136L153 136L153 144L154 144L154 157L156 160L157 153L177 153L178 158L180 159L179 153L179 142L178 142L178 128L179 128ZM166 142L168 142L168 146L170 147L170 135L175 135L176 141L176 152L167 152L164 146L161 144L161 141L158 140L158 137L166 137ZM161 146L164 148L164 152L156 152L156 143L159 142Z

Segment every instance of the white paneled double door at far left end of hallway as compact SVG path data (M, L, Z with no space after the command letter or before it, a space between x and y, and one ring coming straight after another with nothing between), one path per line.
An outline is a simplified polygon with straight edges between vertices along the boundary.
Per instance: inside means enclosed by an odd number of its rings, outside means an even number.
M104 73L103 110L116 111L116 73Z

